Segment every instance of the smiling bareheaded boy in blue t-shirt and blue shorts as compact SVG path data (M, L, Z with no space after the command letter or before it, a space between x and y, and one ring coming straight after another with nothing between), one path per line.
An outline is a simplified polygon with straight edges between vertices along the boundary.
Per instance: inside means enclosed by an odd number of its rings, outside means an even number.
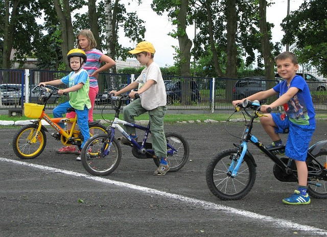
M277 72L284 81L272 89L260 91L245 99L264 100L268 97L280 95L270 105L262 105L261 111L267 112L267 108L276 108L283 105L286 116L280 113L265 114L261 117L260 123L264 130L273 140L272 146L283 146L283 141L278 133L289 129L286 142L285 154L295 160L298 188L289 198L283 199L283 203L298 205L310 204L310 197L307 194L308 168L306 164L307 152L313 132L316 128L315 110L309 87L306 81L296 75L298 62L296 56L291 52L284 52L275 58ZM236 106L243 100L233 101Z

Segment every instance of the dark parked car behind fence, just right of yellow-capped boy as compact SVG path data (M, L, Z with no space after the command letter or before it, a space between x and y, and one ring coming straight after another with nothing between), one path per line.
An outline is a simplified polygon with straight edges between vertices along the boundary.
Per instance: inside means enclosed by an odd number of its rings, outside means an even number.
M172 105L175 101L181 102L181 83L180 81L166 80L164 81L167 94L167 105ZM190 81L191 89L191 101L200 103L201 96L199 91L199 86L196 81ZM183 91L187 92L187 91Z

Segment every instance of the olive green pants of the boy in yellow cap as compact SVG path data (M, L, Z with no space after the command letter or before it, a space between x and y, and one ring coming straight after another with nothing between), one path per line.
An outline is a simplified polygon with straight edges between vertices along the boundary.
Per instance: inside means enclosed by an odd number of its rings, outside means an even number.
M158 157L167 157L167 141L164 131L164 116L167 110L166 106L159 106L152 110L146 110L141 105L141 99L136 99L123 109L124 120L128 123L135 123L135 116L139 116L146 112L149 113L149 121L151 124L151 140L154 154ZM128 134L136 134L135 128L124 126Z

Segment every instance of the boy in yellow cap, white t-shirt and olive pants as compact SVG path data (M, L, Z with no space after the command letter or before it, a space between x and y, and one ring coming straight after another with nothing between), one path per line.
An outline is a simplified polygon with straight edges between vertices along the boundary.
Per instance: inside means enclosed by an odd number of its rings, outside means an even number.
M164 132L164 116L167 110L164 79L162 79L160 67L153 60L155 50L152 43L148 41L139 42L135 49L129 51L129 53L135 54L138 62L146 67L134 82L119 91L112 90L110 93L119 96L122 93L138 88L137 91L129 93L131 98L135 98L135 93L138 93L140 98L124 107L124 120L134 123L135 116L148 112L151 123L152 148L155 155L161 158L160 165L153 174L166 175L170 168L166 160L167 142ZM125 131L137 139L134 127L125 126ZM130 143L125 137L119 138L119 140L123 144Z

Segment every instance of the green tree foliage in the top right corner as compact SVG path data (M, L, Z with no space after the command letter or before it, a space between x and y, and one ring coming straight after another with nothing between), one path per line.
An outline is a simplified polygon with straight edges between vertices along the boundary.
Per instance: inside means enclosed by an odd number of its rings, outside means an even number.
M283 20L284 44L294 44L300 63L314 65L327 76L327 0L305 0Z

